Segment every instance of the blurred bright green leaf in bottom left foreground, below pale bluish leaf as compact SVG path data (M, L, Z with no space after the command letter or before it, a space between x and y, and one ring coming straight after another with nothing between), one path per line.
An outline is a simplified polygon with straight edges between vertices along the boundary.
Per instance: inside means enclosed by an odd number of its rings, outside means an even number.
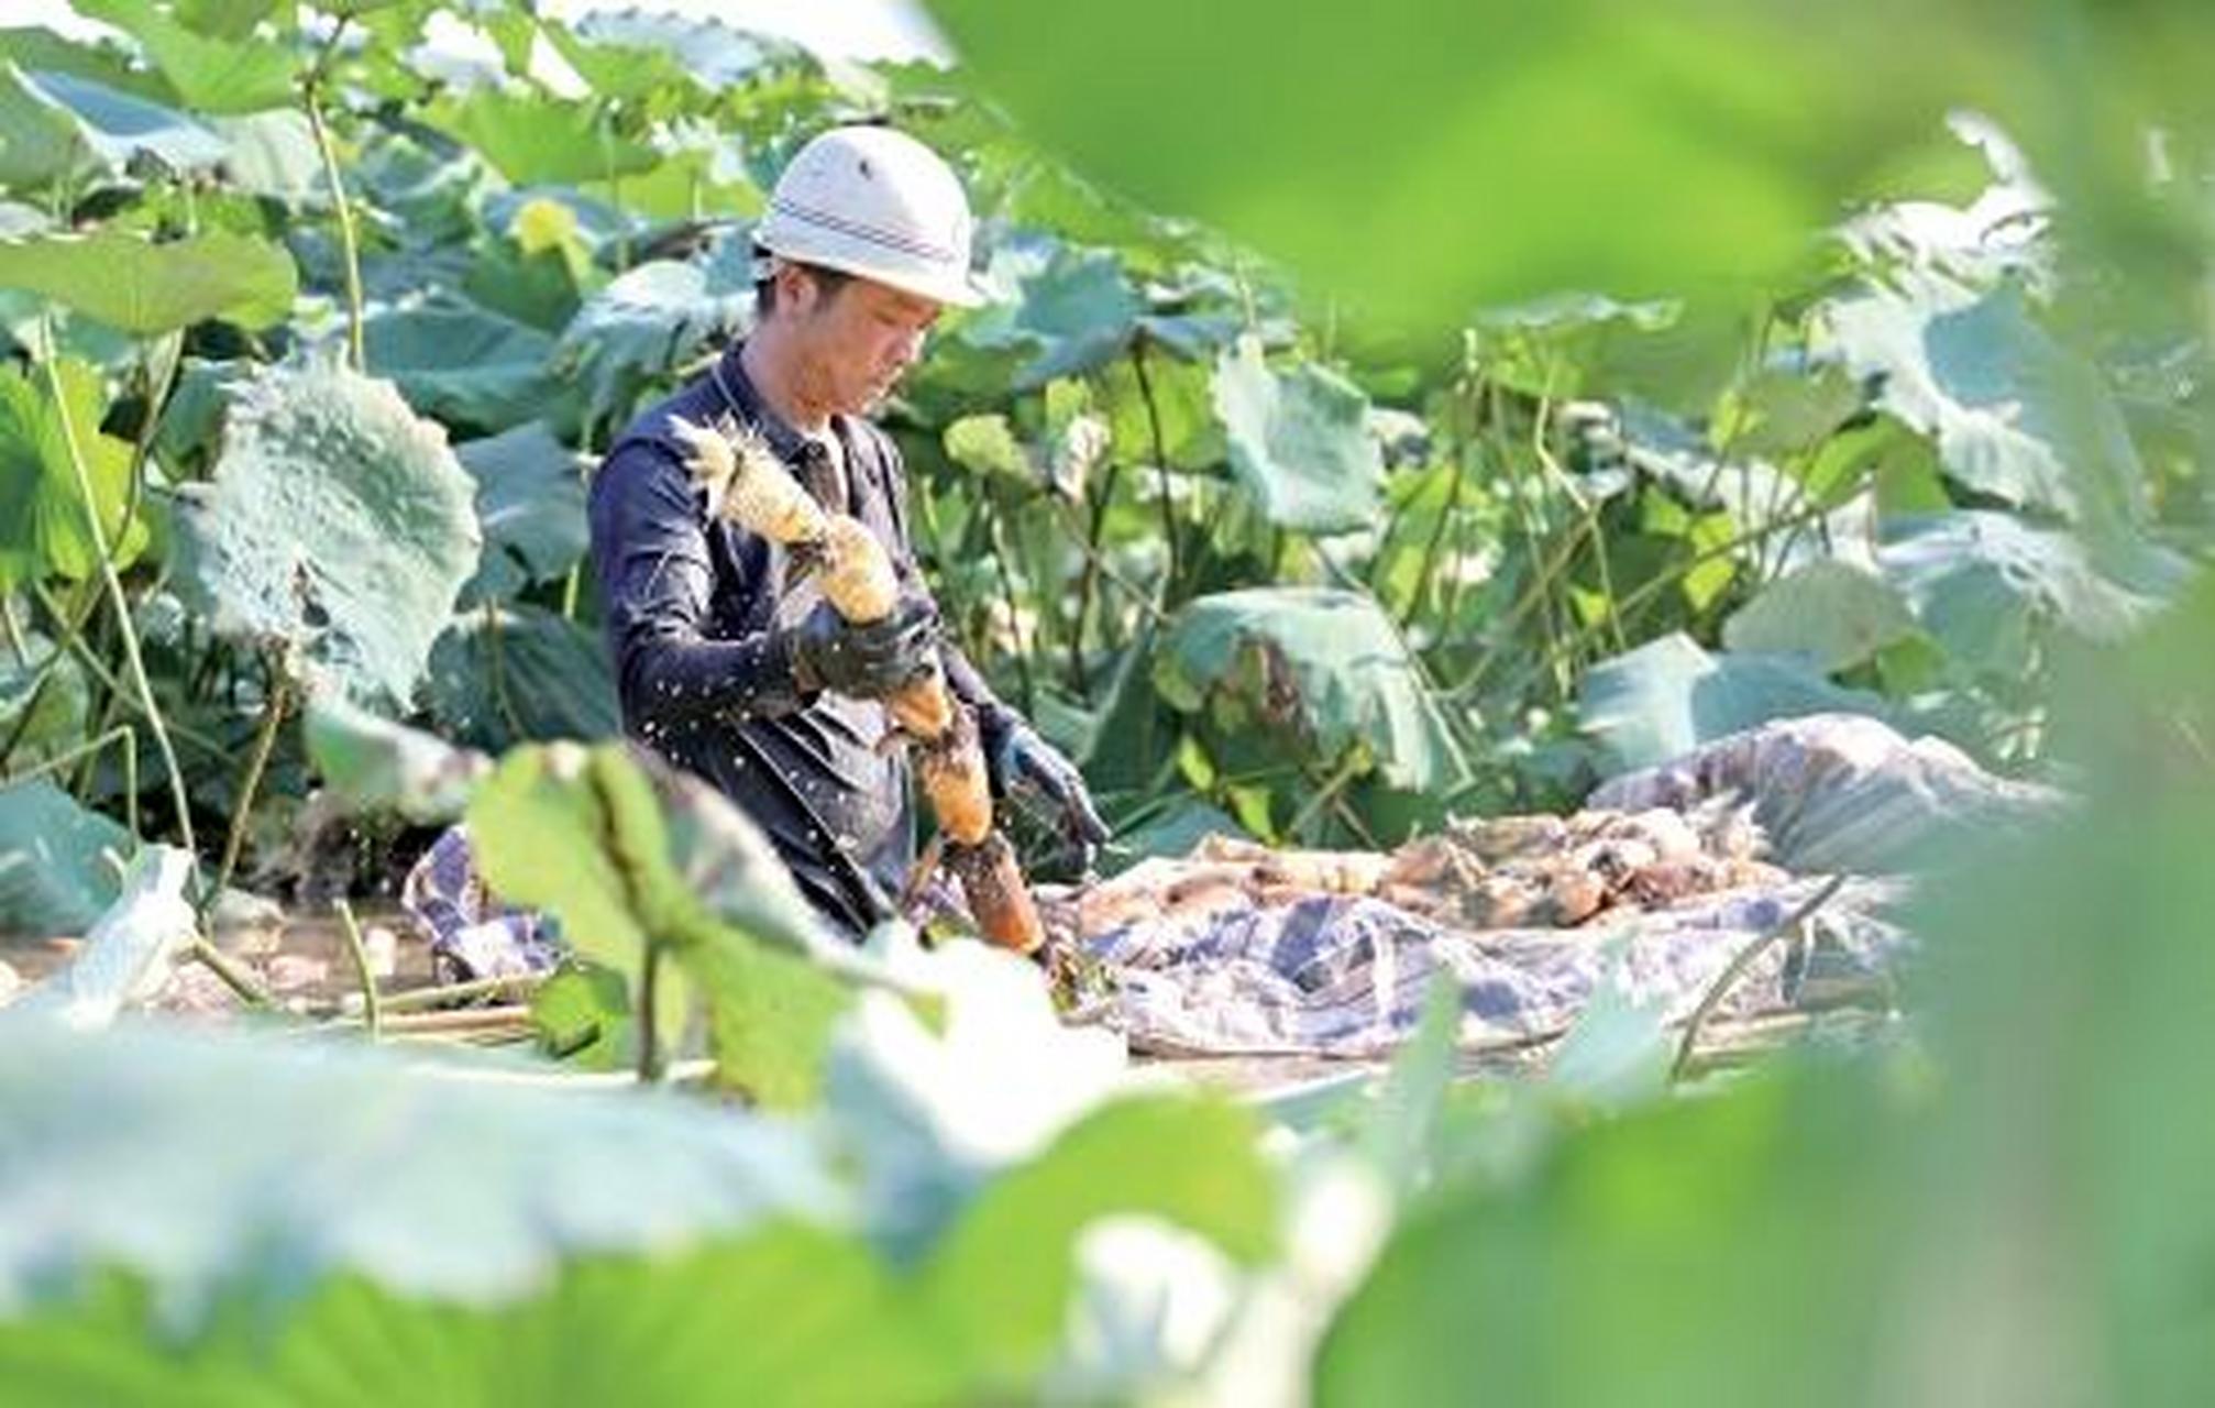
M58 1406L696 1408L731 1384L764 1408L970 1401L915 1297L857 1235L800 1220L735 1240L682 1231L571 1257L507 1304L410 1300L341 1277L190 1337L159 1319L153 1288L117 1277L0 1322L0 1375L13 1401Z

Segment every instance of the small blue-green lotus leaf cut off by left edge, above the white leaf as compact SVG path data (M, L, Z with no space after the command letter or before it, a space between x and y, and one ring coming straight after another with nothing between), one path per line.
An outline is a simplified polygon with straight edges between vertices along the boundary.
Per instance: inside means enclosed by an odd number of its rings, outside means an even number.
M82 934L122 892L137 839L47 781L0 790L0 932Z

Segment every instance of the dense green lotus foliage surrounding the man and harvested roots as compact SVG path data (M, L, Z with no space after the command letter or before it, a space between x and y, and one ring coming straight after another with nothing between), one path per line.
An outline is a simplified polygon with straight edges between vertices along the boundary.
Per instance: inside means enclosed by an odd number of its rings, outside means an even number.
M2206 1397L2204 7L948 0L950 73L75 9L122 38L0 29L0 928L82 930L133 835L288 883L317 784L467 812L589 959L540 998L583 1065L791 1114L7 1018L22 1397L1238 1401L1311 1353L1349 1404ZM1550 1083L1449 1091L1435 1025L1269 1111L1294 1153L1110 1094L1028 972L831 945L729 808L552 739L616 731L594 456L744 330L744 226L848 117L986 219L999 301L884 421L1114 863L1827 708L2087 806L1927 857L1881 1049L1675 1100L1599 1003Z

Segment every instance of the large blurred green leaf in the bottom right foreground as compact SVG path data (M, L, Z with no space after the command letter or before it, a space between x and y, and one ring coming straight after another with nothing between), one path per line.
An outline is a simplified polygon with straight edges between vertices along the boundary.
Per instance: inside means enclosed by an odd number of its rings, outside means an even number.
M1557 1149L1524 1133L1528 1176L1464 1178L1407 1213L1322 1339L1316 1401L1451 1399L1442 1384L1508 1404L1885 1399L1865 1346L1896 1189L1869 1151L1907 1120L1874 1085L1770 1071Z

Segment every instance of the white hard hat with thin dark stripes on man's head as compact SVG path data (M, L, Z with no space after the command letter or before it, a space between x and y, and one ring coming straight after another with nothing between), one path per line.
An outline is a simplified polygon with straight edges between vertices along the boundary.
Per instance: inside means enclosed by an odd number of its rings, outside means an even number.
M800 148L753 241L955 308L977 308L970 210L952 168L888 126L837 126Z

